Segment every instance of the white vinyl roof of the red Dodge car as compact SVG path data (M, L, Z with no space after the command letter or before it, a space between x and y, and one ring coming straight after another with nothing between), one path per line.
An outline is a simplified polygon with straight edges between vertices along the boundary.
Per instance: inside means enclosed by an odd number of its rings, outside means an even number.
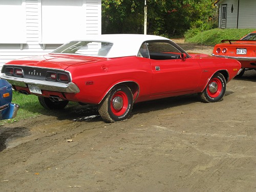
M81 40L81 39L79 39ZM145 41L149 40L169 40L168 38L156 35L142 34L106 34L91 36L88 35L82 40L105 41L112 42L113 46L110 49L107 58L137 56L140 46Z

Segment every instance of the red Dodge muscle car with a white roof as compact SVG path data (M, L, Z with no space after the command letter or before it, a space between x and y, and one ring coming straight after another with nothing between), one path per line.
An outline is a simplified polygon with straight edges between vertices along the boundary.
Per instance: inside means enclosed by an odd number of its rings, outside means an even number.
M20 93L37 95L46 109L63 109L69 101L97 104L102 119L114 122L141 101L191 93L203 102L220 101L240 69L234 59L189 55L165 37L111 34L10 61L1 78Z

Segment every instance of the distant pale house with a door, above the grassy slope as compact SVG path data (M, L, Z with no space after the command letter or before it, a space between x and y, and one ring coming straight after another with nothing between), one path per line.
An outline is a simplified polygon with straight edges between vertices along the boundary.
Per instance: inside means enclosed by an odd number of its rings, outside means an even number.
M219 0L219 28L255 29L256 0Z

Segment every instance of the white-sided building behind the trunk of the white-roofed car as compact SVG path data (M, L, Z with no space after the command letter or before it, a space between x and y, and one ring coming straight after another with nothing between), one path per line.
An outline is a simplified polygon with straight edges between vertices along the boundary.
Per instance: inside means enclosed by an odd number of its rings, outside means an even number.
M10 60L101 34L101 0L0 0L0 26L1 70Z

